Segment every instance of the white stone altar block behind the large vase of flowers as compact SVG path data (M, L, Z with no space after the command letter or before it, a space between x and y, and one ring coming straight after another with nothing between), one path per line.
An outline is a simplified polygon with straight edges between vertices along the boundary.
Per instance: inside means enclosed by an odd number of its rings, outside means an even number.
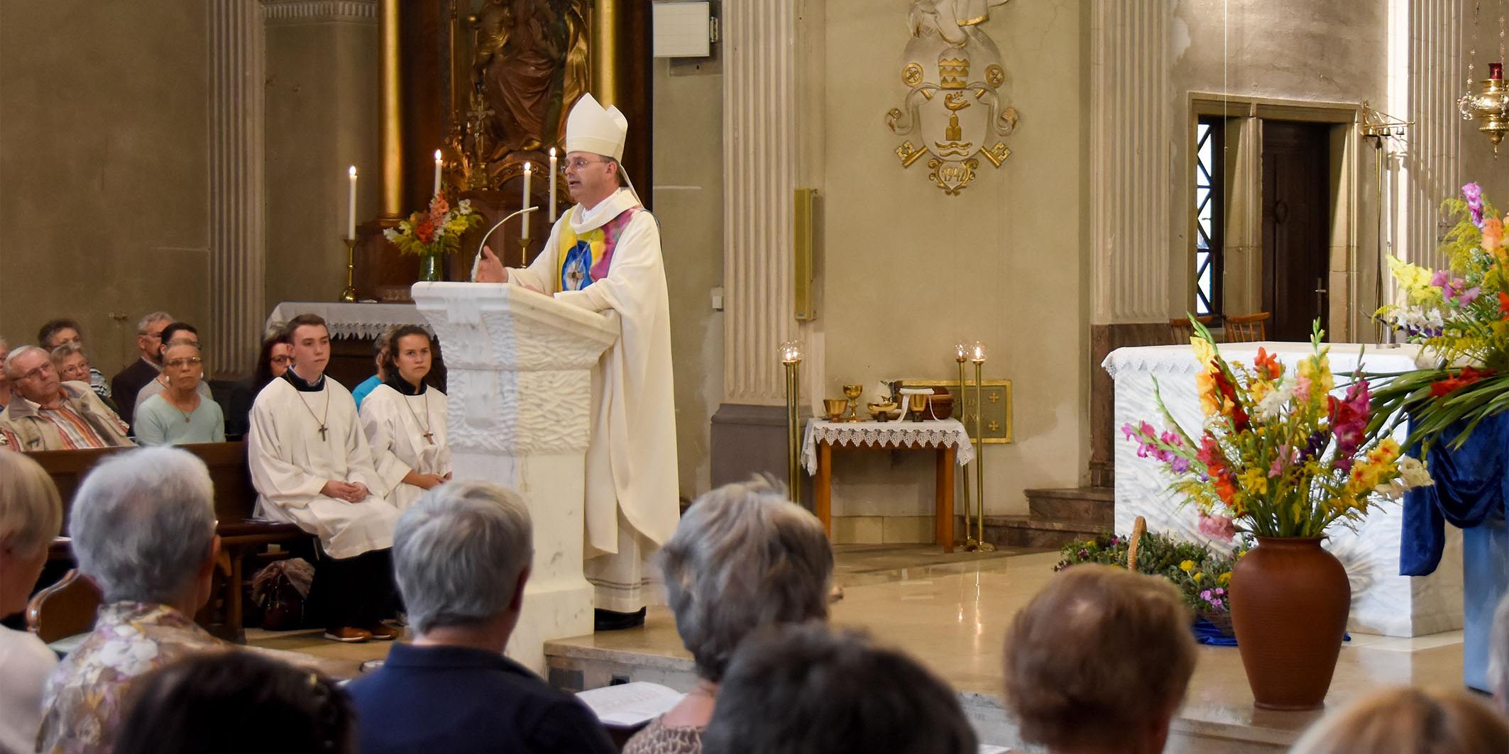
M1252 363L1257 348L1278 356L1286 371L1293 369L1311 353L1308 342L1242 342L1221 344L1228 362ZM1331 345L1331 371L1335 374L1335 395L1345 392L1351 374L1361 365L1372 372L1402 372L1415 368L1418 347ZM1195 391L1198 362L1188 345L1151 345L1118 348L1102 363L1115 380L1115 525L1118 532L1130 532L1138 516L1147 519L1148 531L1177 534L1204 540L1195 528L1195 507L1180 507L1169 492L1172 481L1154 458L1138 458L1136 443L1123 439L1121 425L1147 421L1165 425L1153 395L1153 382L1163 404L1176 421L1195 434L1204 416ZM1403 440L1403 431L1397 433ZM1462 573L1447 564L1461 562L1462 532L1447 526L1443 567L1431 576L1399 575L1399 534L1403 523L1402 501L1385 501L1355 532L1334 526L1325 547L1346 566L1352 582L1352 614L1348 629L1387 636L1420 636L1462 627Z

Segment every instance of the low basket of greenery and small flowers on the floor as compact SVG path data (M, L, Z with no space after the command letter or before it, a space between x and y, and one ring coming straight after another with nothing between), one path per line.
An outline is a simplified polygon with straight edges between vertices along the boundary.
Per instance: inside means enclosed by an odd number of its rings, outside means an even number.
M1073 541L1059 550L1061 559L1053 570L1059 572L1080 562L1124 569L1129 544L1130 538L1120 535ZM1231 597L1227 588L1231 584L1231 567L1246 549L1242 544L1231 555L1222 555L1204 543L1147 532L1138 546L1136 570L1171 581L1192 614L1218 624L1230 635Z

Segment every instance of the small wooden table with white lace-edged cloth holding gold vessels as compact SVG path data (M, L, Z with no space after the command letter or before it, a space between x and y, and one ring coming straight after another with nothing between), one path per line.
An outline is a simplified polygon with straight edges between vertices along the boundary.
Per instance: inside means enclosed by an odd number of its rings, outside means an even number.
M833 448L933 451L933 537L943 552L954 552L954 466L969 463L975 448L958 419L925 422L828 422L812 419L803 443L807 472L813 477L812 513L833 537ZM961 455L963 448L963 458Z

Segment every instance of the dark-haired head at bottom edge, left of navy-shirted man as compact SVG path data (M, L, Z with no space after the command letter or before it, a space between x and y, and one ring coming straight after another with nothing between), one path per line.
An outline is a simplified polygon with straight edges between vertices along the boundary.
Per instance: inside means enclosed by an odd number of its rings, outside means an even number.
M335 682L254 651L199 654L142 677L113 754L356 754Z

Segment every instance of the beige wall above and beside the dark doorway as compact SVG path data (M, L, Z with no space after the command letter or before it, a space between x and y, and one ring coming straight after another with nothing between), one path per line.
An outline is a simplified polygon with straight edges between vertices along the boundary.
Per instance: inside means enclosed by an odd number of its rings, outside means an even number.
M1172 164L1176 192L1192 185L1189 148L1189 92L1228 93L1246 98L1323 101L1357 104L1370 100L1387 107L1388 98L1388 0L1316 3L1313 0L1179 0L1172 12L1172 87L1169 92ZM1239 113L1234 113L1239 115ZM1332 146L1338 152L1342 145ZM1372 255L1376 253L1378 210L1375 201L1372 148L1352 154L1355 164L1338 166L1346 172L1348 193L1355 190L1352 219L1332 219L1349 225L1338 232L1357 246L1360 306L1372 312ZM1332 154L1334 158L1340 154ZM1183 193L1189 196L1189 193ZM1172 204L1169 228L1169 317L1182 315L1192 305L1189 287L1189 213L1191 201ZM1260 243L1260 241L1259 241ZM1346 249L1332 249L1332 311L1346 306ZM1260 253L1260 247L1259 252ZM1257 267L1254 267L1255 270ZM1343 273L1343 274L1335 274ZM1228 270L1228 274L1233 271ZM1337 285L1340 284L1340 285ZM1254 284L1255 285L1255 284ZM1228 285L1228 291L1231 287ZM1233 312L1242 314L1242 312ZM1337 321L1335 312L1332 323ZM1340 332L1332 326L1332 330ZM1364 327L1358 335L1369 335Z

